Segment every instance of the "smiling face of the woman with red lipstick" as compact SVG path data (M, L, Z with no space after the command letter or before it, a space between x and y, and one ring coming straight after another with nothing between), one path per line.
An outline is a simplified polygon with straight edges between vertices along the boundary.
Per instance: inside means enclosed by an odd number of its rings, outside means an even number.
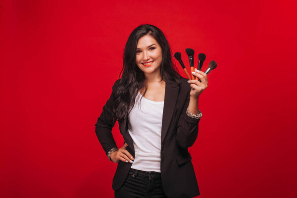
M136 64L145 74L160 72L162 49L152 36L141 37L136 50Z

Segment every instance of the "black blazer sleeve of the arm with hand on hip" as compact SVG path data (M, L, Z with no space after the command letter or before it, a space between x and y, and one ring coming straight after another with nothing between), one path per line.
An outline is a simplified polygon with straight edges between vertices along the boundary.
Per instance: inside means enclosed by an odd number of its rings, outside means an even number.
M114 105L114 92L117 88L118 81L119 80L117 80L112 86L111 95L103 106L102 113L100 114L99 118L97 119L97 123L95 124L96 135L106 155L111 148L117 148L111 131L116 122L116 120L112 120L112 109Z

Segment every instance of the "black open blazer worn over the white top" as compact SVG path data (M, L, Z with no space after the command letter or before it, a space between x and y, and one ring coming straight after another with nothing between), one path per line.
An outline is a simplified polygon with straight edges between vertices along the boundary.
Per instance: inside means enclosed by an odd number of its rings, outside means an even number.
M161 178L165 195L168 198L193 198L199 195L192 157L188 151L197 139L200 119L186 114L190 101L190 84L182 79L180 87L176 82L166 82L165 100L161 129ZM103 149L107 152L116 146L111 130L113 95L120 80L113 87L110 98L103 106L96 123L96 134ZM135 157L132 138L128 133L127 119L119 122L120 132L128 144L126 148ZM128 175L131 163L120 161L112 181L112 189L119 189Z

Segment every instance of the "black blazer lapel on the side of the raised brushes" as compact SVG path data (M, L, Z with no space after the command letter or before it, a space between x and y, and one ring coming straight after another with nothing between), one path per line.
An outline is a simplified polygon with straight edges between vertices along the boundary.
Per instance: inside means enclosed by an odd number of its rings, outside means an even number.
M166 82L163 117L162 117L162 129L161 129L161 144L163 144L164 138L168 131L168 127L171 122L177 97L178 97L178 84L173 81L169 81L168 83Z

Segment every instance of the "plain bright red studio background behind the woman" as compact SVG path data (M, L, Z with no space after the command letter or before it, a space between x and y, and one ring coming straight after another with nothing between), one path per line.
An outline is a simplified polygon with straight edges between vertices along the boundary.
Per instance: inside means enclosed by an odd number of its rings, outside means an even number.
M295 198L296 0L0 2L0 197L112 198L95 123L124 45L153 24L204 52L190 148L200 198ZM177 62L178 63L178 62ZM180 66L178 65L180 68ZM183 76L183 70L180 69ZM117 127L114 137L121 147Z

